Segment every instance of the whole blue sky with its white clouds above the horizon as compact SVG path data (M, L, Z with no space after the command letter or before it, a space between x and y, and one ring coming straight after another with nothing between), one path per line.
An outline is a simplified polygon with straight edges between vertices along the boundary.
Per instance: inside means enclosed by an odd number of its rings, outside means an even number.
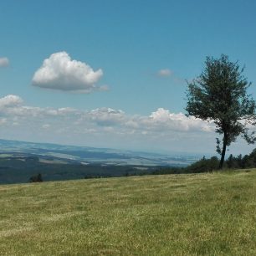
M254 0L2 0L0 138L215 153L187 117L207 56L245 65L256 99ZM241 139L229 152L254 146Z

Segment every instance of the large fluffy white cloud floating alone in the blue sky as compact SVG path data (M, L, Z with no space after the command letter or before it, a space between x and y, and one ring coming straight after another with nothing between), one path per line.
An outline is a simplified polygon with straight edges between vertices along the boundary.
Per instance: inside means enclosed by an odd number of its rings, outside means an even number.
M35 72L32 84L46 89L90 93L107 90L96 86L102 77L101 69L94 71L89 64L72 60L66 52L59 52L44 59L43 65Z

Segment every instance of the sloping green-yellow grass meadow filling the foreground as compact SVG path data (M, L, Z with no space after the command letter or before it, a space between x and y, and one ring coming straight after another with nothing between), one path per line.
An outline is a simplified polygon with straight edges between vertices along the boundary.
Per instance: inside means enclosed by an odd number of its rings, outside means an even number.
M256 170L0 186L1 255L256 255Z

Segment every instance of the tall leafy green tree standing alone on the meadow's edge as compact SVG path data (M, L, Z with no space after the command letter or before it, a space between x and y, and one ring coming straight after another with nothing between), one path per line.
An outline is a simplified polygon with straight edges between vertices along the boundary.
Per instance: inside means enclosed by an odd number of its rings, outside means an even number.
M229 61L227 55L207 57L202 74L188 83L187 115L213 121L216 132L223 136L222 141L217 138L220 169L227 146L239 135L249 144L256 141L254 132L248 133L248 125L256 121L255 101L247 94L251 83L243 76L243 69L238 62Z

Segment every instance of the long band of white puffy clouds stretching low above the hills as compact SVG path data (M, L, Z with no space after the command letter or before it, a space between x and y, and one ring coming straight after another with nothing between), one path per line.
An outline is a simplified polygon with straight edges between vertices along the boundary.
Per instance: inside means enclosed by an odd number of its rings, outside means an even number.
M0 98L0 115L5 118L13 118L13 121L33 120L50 124L49 120L59 122L60 125L77 125L82 130L96 129L100 131L104 126L115 127L115 132L132 133L136 131L157 132L211 132L214 125L193 117L187 117L182 113L171 113L170 110L159 108L151 115L126 115L122 110L110 108L98 108L95 110L76 110L70 107L63 108L39 108L23 104L23 100L17 95L7 95ZM42 126L43 126L42 125ZM52 125L51 125L52 126ZM80 126L80 127L79 127ZM100 128L101 127L101 128Z

